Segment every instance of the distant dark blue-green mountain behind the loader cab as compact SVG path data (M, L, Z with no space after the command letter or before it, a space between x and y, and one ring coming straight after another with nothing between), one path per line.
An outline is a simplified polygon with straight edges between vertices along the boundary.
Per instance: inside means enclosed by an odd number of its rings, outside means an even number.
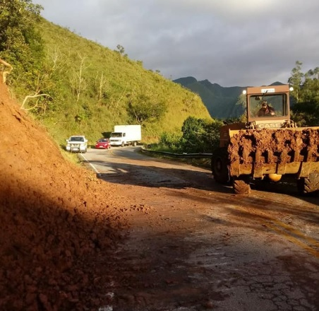
M223 87L210 81L197 81L196 78L188 76L177 78L173 82L181 84L184 88L197 93L207 107L210 116L214 119L228 119L243 115L243 107L236 105L239 95L247 87L231 86ZM271 86L281 85L281 82L272 83Z

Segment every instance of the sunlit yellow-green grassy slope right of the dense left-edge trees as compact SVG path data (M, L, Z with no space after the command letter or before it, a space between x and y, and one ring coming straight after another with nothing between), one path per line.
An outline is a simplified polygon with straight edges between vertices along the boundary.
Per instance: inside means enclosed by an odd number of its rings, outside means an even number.
M164 132L180 131L188 116L210 118L198 95L143 68L124 53L87 40L41 18L37 25L44 40L45 66L25 108L48 127L58 143L71 134L85 134L91 143L116 124L137 124L129 103L162 105L160 118L143 122L143 141L157 141ZM25 87L16 83L20 101Z

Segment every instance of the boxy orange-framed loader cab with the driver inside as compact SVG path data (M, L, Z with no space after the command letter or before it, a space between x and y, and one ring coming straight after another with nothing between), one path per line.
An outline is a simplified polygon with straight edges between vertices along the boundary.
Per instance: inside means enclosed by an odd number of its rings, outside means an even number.
M288 85L247 88L246 103L251 128L280 128L290 123Z

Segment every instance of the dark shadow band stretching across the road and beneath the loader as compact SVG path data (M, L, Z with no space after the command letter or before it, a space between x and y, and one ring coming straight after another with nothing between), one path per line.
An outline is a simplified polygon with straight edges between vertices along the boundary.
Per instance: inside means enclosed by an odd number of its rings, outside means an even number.
M164 160L160 160L160 162L167 163ZM209 170L200 170L191 165L188 165L187 167L184 163L174 163L171 167L169 167L168 164L167 168L154 165L148 166L145 161L140 161L140 165L132 163L114 163L107 160L90 161L90 163L92 163L92 165L107 168L107 172L97 174L97 177L115 184L131 184L143 187L167 187L171 189L194 188L226 194L234 193L230 184L224 185L215 182ZM181 168L178 168L178 165L180 165ZM272 192L275 194L287 194L312 204L319 204L318 195L299 196L296 181L287 178L283 178L282 181L277 183L263 180L251 180L251 189L262 192Z

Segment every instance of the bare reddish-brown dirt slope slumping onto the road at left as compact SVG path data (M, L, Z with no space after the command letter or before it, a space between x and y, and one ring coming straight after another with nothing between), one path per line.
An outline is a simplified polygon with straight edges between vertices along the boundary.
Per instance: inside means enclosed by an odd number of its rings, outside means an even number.
M0 115L0 310L97 310L116 185L68 163L1 80Z

